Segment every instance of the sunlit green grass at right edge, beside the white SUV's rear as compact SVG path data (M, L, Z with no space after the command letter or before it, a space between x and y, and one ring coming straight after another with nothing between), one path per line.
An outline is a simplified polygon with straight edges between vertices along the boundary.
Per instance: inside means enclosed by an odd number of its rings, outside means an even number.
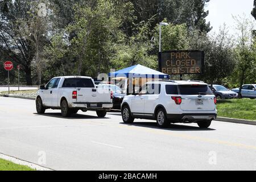
M242 98L217 101L218 117L256 121L256 99Z

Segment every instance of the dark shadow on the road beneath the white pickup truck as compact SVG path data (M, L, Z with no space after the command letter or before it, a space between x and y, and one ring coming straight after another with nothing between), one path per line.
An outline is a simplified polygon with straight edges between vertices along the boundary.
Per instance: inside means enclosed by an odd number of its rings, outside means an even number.
M108 117L100 118L93 115L85 115L85 114L71 114L70 117L65 118L61 115L61 113L44 113L44 114L38 114L34 113L36 115L44 115L47 117L53 117L53 118L62 118L62 119L109 119Z

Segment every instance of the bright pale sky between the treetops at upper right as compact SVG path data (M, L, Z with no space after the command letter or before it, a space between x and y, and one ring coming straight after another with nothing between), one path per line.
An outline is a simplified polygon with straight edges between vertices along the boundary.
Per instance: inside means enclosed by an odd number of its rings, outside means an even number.
M207 3L205 10L209 10L207 16L207 22L213 27L211 33L218 32L220 26L225 23L229 28L229 34L236 34L234 28L235 21L232 15L243 15L247 18L253 18L251 16L251 10L253 9L253 0L210 0Z

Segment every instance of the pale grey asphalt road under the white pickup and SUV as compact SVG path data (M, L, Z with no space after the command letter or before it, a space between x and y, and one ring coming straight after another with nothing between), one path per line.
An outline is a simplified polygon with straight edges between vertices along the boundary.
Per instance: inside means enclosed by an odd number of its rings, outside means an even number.
M35 101L0 97L0 153L57 170L256 170L256 126L214 121L159 129L119 113L38 115Z

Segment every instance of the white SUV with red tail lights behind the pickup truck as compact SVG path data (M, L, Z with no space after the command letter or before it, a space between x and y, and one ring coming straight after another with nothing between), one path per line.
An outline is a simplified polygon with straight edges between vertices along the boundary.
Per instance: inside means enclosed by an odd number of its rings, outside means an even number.
M156 119L159 127L170 123L193 123L207 128L217 117L216 97L200 81L150 81L138 93L123 98L125 123L134 118Z

